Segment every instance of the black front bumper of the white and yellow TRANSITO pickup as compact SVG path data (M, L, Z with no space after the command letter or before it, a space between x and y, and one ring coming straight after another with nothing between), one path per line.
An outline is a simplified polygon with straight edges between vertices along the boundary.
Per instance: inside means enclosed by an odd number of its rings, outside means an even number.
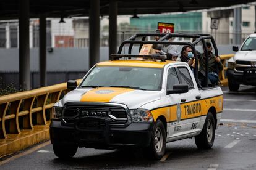
M75 123L64 126L60 120L52 120L50 137L52 144L74 144L88 148L148 147L154 123L130 123L129 126L92 128Z

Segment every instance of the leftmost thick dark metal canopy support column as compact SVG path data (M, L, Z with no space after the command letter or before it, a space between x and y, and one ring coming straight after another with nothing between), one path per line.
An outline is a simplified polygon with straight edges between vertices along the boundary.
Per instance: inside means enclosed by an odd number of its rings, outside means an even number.
M29 0L19 0L19 83L30 89Z

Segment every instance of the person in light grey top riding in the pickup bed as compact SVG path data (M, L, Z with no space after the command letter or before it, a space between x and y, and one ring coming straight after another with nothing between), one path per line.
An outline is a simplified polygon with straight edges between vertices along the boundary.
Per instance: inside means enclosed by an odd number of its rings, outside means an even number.
M164 41L171 42L172 39L168 38L168 39L165 39ZM169 54L173 54L173 53L178 54L177 47L175 45L153 44L153 49L156 50L155 51L156 53L161 54L161 55L166 55L167 53L169 53Z

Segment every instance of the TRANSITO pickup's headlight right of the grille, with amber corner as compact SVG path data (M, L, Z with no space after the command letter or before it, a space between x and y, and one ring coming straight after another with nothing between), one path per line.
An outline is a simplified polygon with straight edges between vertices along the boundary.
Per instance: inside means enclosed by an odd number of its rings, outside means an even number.
M153 116L150 110L145 110L145 109L130 110L130 115L132 116L132 122L134 123L153 122Z

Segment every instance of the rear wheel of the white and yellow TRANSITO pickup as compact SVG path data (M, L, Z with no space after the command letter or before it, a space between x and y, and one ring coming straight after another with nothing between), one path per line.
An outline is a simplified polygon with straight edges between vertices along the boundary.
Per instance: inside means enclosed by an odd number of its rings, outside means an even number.
M198 136L195 136L197 148L209 149L213 146L215 139L215 120L213 114L208 112L203 129Z

